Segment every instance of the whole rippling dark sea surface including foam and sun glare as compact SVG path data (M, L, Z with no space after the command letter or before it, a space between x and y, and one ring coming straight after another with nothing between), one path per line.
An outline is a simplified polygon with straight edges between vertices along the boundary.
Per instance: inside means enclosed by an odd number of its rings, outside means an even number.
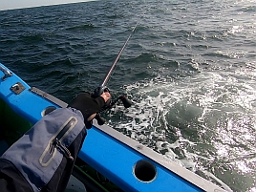
M69 102L108 87L107 124L228 191L256 191L256 1L102 0L0 11L0 62ZM89 136L88 136L89 137Z

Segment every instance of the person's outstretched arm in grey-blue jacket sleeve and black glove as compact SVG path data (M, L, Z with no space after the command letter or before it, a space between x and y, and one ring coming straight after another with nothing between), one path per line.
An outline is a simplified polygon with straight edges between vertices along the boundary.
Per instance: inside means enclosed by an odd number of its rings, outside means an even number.
M109 93L76 96L34 124L0 158L1 192L64 191L76 156Z

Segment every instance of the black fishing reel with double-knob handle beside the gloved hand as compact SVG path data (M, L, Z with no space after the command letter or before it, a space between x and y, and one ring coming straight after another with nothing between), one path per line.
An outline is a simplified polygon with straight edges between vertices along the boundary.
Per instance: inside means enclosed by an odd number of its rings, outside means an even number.
M97 96L101 96L105 92L110 93L109 88L106 86L99 86L94 91L93 97L96 98ZM115 100L112 100L112 97L110 97L108 101L105 103L105 105L101 108L100 112L111 109L119 100L121 100L125 108L129 108L132 105L132 102L128 100L125 96L118 96L117 99ZM103 125L106 122L106 120L103 117L100 117L99 113L96 114L95 118L96 118L97 124Z

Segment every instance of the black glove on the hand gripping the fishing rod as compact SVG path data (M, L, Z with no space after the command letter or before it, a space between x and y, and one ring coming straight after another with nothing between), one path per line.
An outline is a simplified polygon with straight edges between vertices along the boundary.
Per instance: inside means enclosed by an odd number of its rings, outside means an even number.
M91 94L83 93L76 96L68 105L68 107L79 110L84 117L86 128L90 129L92 128L93 120L88 121L87 119L93 114L100 112L104 105L105 100L101 96L93 98Z

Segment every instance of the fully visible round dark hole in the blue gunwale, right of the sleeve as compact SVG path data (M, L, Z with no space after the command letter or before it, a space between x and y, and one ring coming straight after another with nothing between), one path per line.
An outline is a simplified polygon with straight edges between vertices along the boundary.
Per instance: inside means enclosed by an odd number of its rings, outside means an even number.
M134 174L139 181L150 182L156 179L157 169L150 161L139 160L134 166Z

